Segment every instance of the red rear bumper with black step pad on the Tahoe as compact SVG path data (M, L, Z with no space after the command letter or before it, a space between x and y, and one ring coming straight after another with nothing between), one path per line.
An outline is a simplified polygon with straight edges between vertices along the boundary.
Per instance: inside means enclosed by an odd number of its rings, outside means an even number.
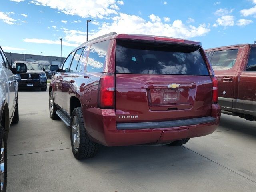
M190 120L116 123L115 110L82 105L89 137L105 146L127 146L148 143L168 143L182 138L211 134L220 122L220 106L212 104L209 117Z

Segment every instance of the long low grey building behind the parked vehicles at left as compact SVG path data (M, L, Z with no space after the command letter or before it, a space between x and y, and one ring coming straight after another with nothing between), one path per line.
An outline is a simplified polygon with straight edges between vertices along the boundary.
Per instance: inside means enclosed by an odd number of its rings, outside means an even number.
M20 53L10 53L10 52L5 52L6 57L8 61L13 64L14 61L38 61L38 60L43 60L43 61L49 61L51 65L59 65L60 64L60 57L55 57L55 56L41 56L41 55L30 55L30 54L20 54ZM66 58L62 57L62 63L64 62Z

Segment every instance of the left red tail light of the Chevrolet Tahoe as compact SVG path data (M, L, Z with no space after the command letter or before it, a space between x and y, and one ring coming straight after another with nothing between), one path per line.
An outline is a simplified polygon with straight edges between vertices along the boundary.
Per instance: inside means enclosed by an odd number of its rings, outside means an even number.
M111 109L115 107L115 75L104 73L100 77L98 92L98 108Z

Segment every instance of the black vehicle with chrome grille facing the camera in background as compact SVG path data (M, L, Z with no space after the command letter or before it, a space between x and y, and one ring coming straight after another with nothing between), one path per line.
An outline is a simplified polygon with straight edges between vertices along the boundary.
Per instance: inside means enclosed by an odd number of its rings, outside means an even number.
M47 77L38 62L15 61L12 67L15 68L18 63L26 64L28 69L26 73L15 74L19 82L19 88L41 88L42 91L47 90Z

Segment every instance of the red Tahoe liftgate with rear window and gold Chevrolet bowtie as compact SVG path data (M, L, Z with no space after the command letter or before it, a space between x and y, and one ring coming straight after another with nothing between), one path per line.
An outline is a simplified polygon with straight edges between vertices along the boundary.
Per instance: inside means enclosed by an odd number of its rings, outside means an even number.
M116 122L210 116L212 78L199 45L116 40Z

